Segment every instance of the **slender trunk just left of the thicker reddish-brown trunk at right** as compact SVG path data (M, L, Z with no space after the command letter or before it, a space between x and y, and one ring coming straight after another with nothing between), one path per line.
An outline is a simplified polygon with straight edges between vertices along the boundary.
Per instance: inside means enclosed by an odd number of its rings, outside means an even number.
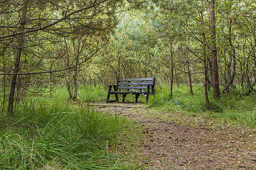
M201 0L201 5L203 5L203 0ZM201 11L201 25L203 28L203 61L204 61L204 93L205 93L205 101L207 105L210 105L209 97L208 97L208 89L207 89L207 83L208 83L208 70L207 70L207 58L206 58L206 52L205 52L205 26L204 26L204 16L203 12Z

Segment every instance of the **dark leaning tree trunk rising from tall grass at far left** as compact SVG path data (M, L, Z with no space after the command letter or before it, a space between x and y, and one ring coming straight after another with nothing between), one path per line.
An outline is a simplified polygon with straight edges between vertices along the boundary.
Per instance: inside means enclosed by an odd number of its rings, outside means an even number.
M24 31L25 24L26 24L27 3L28 3L28 0L24 0L23 11L22 11L22 19L21 19L20 29L19 29L20 32ZM13 114L15 87L16 87L16 84L17 84L17 76L18 76L16 73L18 73L18 71L19 71L19 65L20 65L20 58L21 58L23 43L24 43L24 35L22 34L22 35L19 36L18 51L17 51L17 54L16 54L14 71L13 71L14 75L13 75L13 78L11 79L11 90L10 90L9 104L8 104L9 114Z

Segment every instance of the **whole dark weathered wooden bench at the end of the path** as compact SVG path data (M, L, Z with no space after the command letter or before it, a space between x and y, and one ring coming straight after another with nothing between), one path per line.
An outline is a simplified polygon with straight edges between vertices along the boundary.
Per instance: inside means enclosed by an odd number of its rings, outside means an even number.
M112 94L115 95L115 100L109 100ZM135 103L138 103L138 97L141 94L146 95L146 101L148 101L148 95L155 94L155 78L117 79L117 85L109 85L106 103L118 101L118 94L123 95L123 103L127 94L135 95Z

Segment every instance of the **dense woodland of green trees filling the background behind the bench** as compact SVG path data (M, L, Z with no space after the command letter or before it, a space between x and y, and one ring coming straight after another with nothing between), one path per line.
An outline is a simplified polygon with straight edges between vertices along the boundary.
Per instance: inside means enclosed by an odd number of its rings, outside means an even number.
M1 1L1 108L117 78L255 91L255 1ZM48 88L49 87L49 88ZM47 94L48 95L48 94Z

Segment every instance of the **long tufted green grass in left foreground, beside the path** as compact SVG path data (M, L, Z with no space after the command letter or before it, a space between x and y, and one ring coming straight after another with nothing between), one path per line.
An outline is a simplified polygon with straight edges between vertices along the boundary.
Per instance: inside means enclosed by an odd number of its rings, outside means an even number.
M65 104L64 104L65 103ZM89 105L31 98L1 116L0 169L119 169L119 119Z

